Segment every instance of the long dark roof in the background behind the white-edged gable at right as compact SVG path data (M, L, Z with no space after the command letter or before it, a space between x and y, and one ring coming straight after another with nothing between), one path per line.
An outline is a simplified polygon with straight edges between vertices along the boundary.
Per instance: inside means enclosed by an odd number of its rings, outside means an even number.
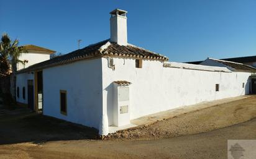
M227 58L227 59L221 59L221 60L242 63L242 64L256 67L256 56L244 56L239 58ZM201 62L203 61L193 61L193 62L186 62L186 63L200 64Z

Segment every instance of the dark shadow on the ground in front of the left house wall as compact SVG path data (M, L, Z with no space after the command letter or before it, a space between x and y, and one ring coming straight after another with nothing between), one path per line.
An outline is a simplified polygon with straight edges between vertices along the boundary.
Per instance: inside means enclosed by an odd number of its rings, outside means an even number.
M53 140L96 139L98 130L61 119L43 116L27 108L8 110L0 107L0 144Z

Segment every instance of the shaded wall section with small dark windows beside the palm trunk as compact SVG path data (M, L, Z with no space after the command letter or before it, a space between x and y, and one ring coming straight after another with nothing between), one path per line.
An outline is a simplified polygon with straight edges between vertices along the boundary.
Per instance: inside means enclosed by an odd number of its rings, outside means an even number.
M34 74L31 73L23 73L17 74L16 76L16 95L17 95L17 87L19 87L19 98L16 100L19 103L27 104L27 80L34 80ZM22 97L22 88L25 87L25 99Z

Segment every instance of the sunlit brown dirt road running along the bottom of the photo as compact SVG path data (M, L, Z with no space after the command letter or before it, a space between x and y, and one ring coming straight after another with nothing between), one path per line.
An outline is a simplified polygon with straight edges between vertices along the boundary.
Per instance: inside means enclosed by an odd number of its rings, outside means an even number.
M226 158L227 139L256 139L256 119L201 134L158 140L70 140L0 146L0 158Z

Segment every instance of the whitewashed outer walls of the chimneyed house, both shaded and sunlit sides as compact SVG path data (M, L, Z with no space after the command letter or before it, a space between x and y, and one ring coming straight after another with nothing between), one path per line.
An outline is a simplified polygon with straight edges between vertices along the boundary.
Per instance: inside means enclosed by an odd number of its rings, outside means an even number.
M113 70L107 58L98 58L43 69L43 114L95 127L106 135L108 126L124 126L130 119L249 93L248 72L153 60L143 60L142 68L135 68L135 59L128 58L114 58L114 65ZM27 79L33 74L18 74L17 86L26 87ZM124 118L116 106L116 80L132 83L127 86L129 100L121 103L129 105ZM60 90L67 92L66 115L60 112ZM27 103L21 97L22 92L18 101Z

